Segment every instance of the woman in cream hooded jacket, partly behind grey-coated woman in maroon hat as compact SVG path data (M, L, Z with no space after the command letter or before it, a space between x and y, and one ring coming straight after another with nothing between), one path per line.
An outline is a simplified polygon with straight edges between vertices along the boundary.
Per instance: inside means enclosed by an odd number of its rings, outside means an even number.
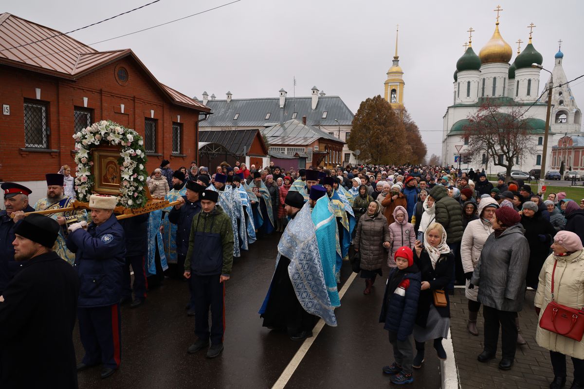
M464 292L468 299L467 329L475 337L478 336L477 317L481 303L477 301L478 286L468 289L468 285L472 278L472 272L477 268L478 258L481 257L482 246L489 235L493 233L491 219L497 208L499 208L499 205L494 198L486 197L481 199L481 204L478 206L479 218L468 222L464 230L463 240L460 243L460 258L463 262L464 276L467 279L467 289Z

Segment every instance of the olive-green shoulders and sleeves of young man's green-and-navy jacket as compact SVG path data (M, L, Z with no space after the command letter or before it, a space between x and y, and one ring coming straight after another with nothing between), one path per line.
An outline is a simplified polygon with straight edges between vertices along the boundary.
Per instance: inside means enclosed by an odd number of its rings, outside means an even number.
M223 209L217 205L209 213L201 211L193 216L193 223L190 226L189 251L187 251L185 258L186 270L190 270L193 250L197 250L197 247L193 247L195 230L220 234L221 247L217 247L217 250L223 250L223 268L221 269L221 274L230 275L231 266L233 265L233 229L231 227L231 219L227 216L227 213L223 212Z

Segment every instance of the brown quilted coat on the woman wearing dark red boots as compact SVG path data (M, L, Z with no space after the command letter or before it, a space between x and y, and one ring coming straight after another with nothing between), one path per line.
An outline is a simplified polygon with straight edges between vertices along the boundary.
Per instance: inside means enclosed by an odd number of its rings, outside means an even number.
M365 213L359 218L353 247L361 253L361 269L381 269L387 251L383 243L390 241L390 229L385 216L378 213L375 218Z

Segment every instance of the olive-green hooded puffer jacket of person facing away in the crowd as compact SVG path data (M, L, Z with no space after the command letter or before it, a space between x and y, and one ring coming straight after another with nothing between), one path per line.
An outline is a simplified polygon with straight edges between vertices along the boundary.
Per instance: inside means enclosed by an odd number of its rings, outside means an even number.
M463 239L463 208L460 203L448 195L442 185L436 185L430 191L436 201L435 221L446 230L446 243L457 243Z

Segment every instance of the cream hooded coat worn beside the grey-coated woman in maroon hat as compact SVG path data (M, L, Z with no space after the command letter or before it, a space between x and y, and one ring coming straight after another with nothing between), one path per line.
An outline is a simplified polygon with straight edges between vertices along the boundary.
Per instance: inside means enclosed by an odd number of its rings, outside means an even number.
M497 204L493 198L482 199L478 206L478 214L481 215L483 209L488 204ZM478 258L481 257L482 247L485 245L486 239L493 233L493 226L485 220L477 219L469 222L464 230L463 240L460 242L460 258L463 262L463 270L465 273L474 271L478 265ZM467 299L477 301L478 286L474 289L468 289L470 281L467 280L467 289L464 295Z

